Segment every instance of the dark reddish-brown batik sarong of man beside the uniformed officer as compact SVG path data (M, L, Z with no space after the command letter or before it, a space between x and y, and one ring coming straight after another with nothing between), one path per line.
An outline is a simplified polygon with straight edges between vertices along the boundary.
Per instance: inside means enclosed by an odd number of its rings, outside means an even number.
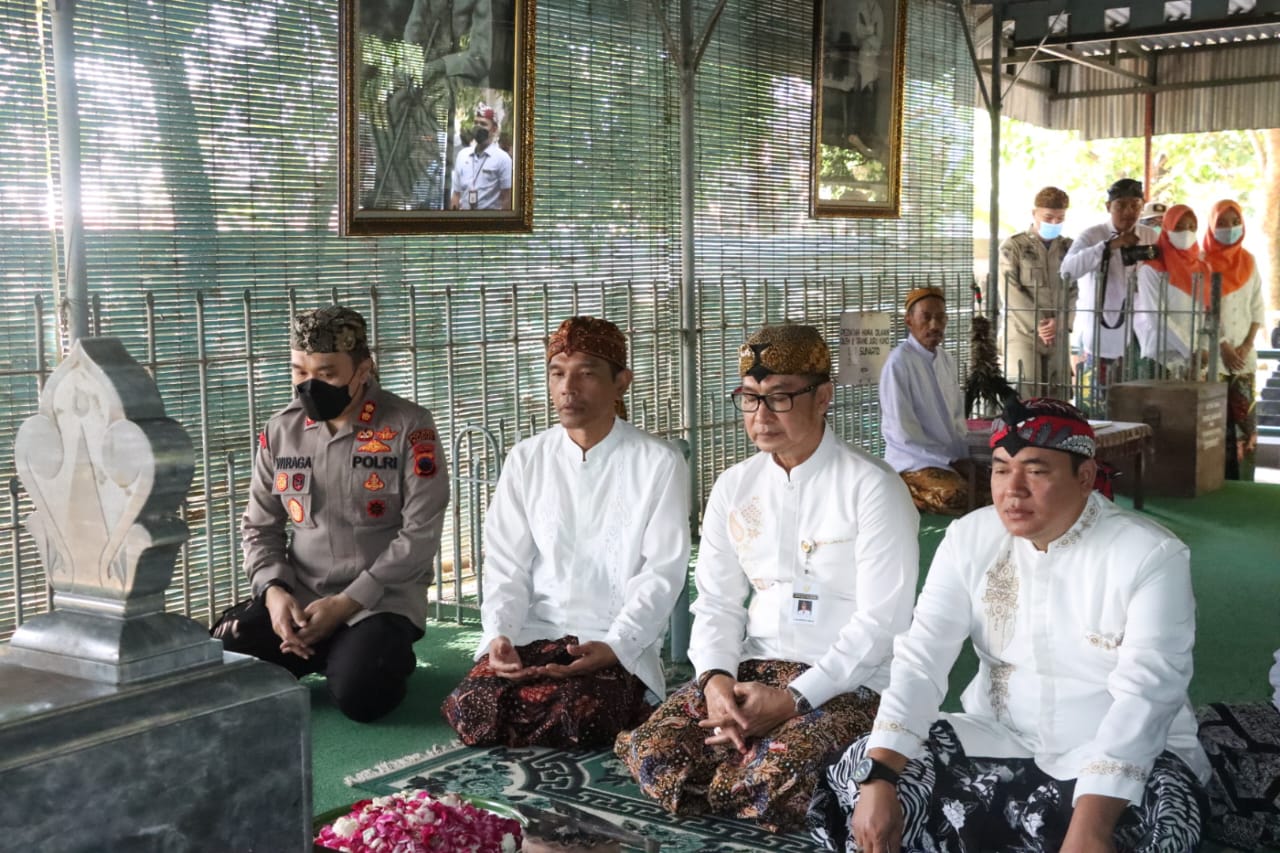
M517 647L525 666L572 663L566 647L576 637L536 640ZM644 681L620 663L590 675L513 681L494 674L489 656L481 657L448 695L440 712L471 747L602 748L618 731L631 727L653 710L645 702Z

